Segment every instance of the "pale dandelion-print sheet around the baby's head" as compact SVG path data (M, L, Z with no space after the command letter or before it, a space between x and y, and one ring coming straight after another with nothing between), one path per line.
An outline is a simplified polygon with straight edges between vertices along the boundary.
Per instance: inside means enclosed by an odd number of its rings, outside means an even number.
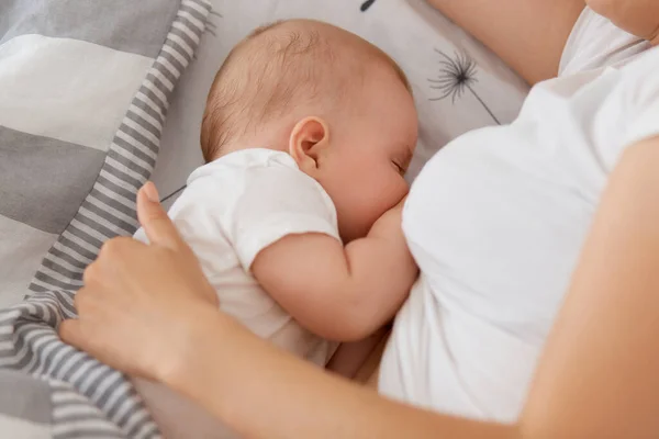
M202 165L200 123L210 85L228 50L256 26L287 18L327 21L372 42L409 76L420 139L409 178L442 146L468 131L512 121L528 86L495 55L423 0L211 0L199 59L172 98L153 180L171 203Z

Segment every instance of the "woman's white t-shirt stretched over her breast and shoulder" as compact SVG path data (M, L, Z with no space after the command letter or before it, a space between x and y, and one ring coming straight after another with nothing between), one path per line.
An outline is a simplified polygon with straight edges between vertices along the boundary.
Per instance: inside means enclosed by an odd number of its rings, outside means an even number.
M659 135L659 48L616 57L635 38L602 20L587 10L571 37L607 37L599 52L568 46L569 75L536 86L513 124L454 140L413 183L403 229L422 275L396 317L381 393L518 416L607 178L627 146ZM596 58L616 67L593 68Z

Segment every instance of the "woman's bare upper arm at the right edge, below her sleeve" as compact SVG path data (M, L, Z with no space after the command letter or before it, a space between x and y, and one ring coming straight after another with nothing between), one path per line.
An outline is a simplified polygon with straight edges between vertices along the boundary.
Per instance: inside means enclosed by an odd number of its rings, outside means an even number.
M649 438L659 431L659 138L611 176L540 361L523 431Z

